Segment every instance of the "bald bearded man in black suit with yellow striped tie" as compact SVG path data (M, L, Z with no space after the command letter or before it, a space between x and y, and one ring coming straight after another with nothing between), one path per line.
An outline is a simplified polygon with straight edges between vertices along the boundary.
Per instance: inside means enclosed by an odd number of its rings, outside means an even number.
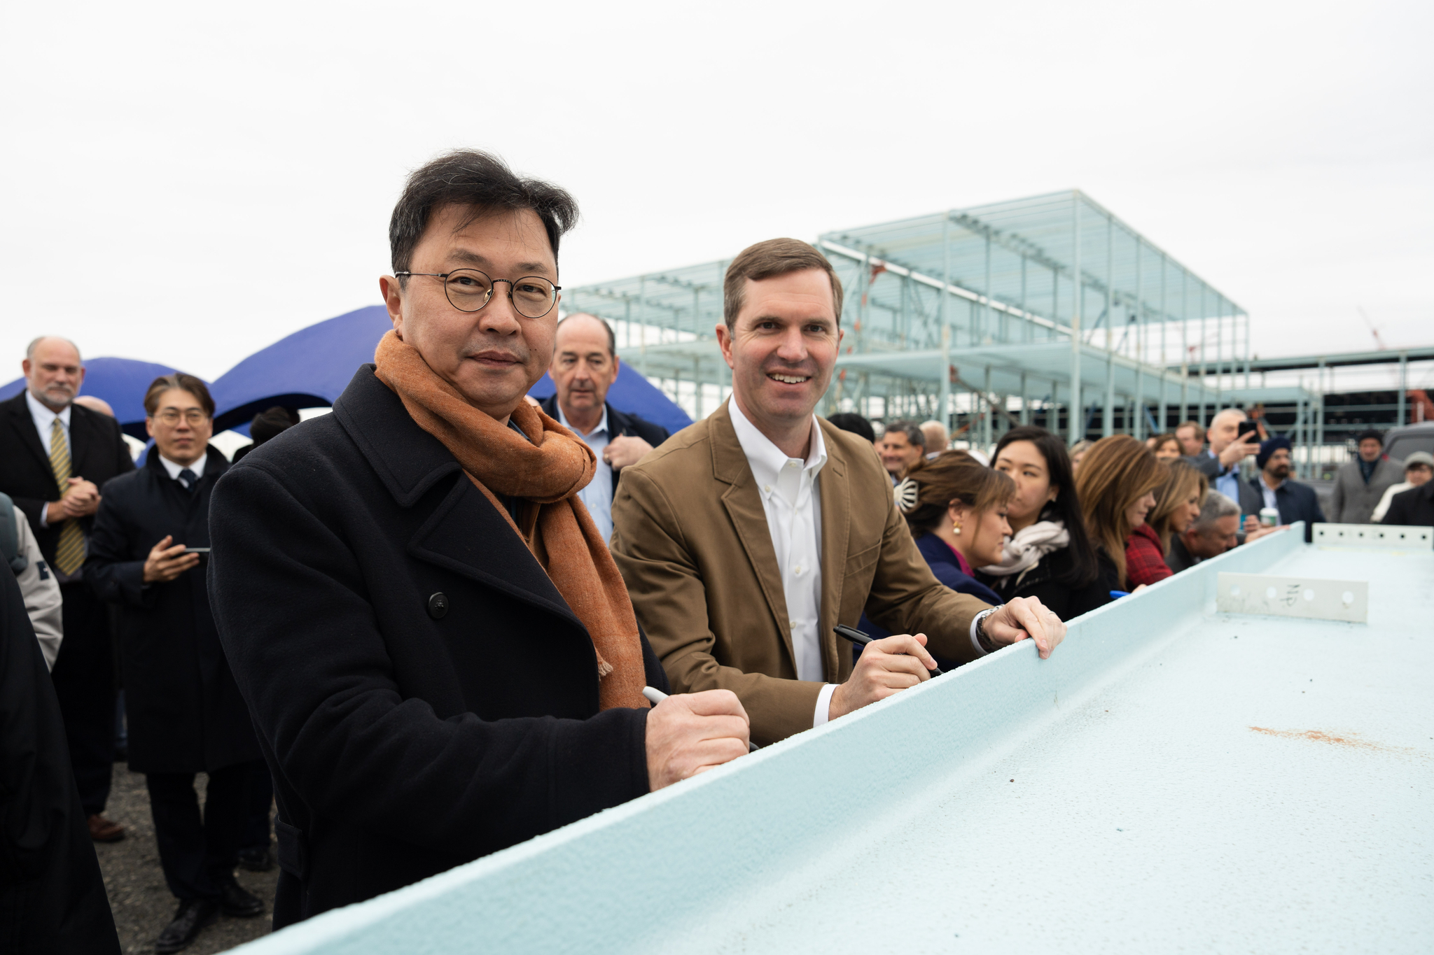
M24 391L0 404L0 491L24 511L60 581L54 693L90 836L115 842L125 829L102 815L115 760L113 646L109 611L85 586L83 564L100 485L135 462L113 418L75 404L85 365L72 342L34 339L22 368Z

